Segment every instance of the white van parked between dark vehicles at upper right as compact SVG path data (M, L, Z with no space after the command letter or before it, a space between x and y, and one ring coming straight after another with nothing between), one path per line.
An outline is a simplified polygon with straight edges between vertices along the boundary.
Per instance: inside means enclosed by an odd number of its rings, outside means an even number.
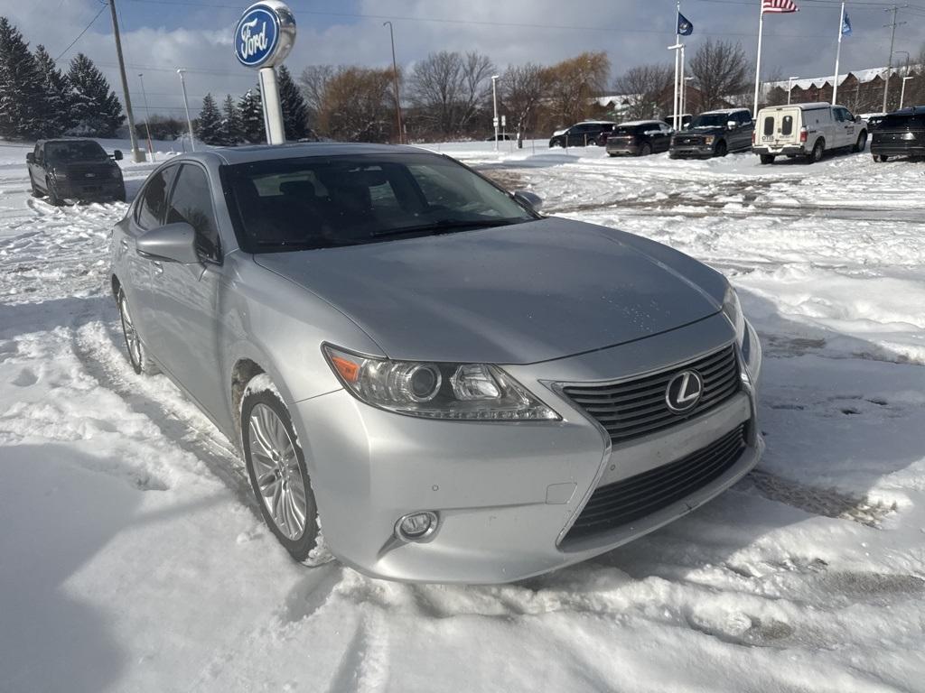
M835 149L851 148L863 152L867 146L868 124L852 116L845 106L829 103L793 103L768 106L758 112L752 152L762 164L773 164L774 157L805 156L808 164Z

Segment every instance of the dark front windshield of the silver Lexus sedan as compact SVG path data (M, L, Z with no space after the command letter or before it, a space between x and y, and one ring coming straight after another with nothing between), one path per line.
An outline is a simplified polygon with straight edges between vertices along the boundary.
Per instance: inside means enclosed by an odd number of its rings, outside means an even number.
M334 248L519 224L536 216L428 153L277 159L228 167L248 252Z

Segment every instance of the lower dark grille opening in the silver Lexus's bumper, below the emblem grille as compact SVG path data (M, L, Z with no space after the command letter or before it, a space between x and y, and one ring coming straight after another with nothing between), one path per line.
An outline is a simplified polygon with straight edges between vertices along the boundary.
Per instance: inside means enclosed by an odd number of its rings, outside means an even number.
M719 479L742 455L746 426L740 424L714 443L667 465L601 486L563 541L630 524Z

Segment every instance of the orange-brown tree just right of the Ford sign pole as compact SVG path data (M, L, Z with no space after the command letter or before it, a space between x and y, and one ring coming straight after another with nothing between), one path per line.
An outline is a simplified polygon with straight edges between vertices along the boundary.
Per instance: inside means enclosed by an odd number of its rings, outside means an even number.
M339 67L320 98L318 130L334 140L380 142L394 126L392 70Z

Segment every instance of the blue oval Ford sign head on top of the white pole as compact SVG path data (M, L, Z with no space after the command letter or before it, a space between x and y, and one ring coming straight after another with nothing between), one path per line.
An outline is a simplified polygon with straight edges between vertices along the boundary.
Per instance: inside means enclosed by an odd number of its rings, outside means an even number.
M244 10L234 32L234 52L241 65L273 67L289 55L295 41L295 18L277 0Z

